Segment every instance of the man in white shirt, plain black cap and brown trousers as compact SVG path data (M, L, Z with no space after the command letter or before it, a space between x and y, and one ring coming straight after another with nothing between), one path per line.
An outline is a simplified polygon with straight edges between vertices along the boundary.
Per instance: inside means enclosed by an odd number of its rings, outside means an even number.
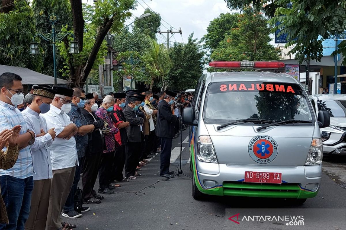
M73 90L65 87L53 87L55 94L51 109L42 114L46 119L47 129L55 128L56 138L49 147L53 178L49 197L49 208L46 230L63 229L60 214L67 196L69 196L76 170L77 150L74 135L78 132L77 126L67 115L71 110ZM76 212L76 217L81 214Z

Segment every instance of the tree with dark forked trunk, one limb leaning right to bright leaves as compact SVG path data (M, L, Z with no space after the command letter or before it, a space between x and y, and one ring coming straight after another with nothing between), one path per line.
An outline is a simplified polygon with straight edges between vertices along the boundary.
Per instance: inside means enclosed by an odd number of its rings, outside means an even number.
M82 1L70 0L70 3L73 17L73 33L82 52L85 29ZM88 58L86 60L82 59L81 62L77 61L76 63L69 64L70 80L76 86L83 86L86 78L88 78L108 31L119 31L125 20L131 16L129 10L134 8L135 0L99 0L95 2L94 6L88 7L88 19L92 20L91 24L95 30L95 37L92 41L91 50L88 52ZM65 63L69 62L65 60Z

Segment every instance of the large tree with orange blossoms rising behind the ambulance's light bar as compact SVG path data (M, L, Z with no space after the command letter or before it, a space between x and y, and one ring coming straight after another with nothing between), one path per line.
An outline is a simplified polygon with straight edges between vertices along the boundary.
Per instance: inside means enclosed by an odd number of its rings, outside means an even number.
M279 59L280 50L269 42L271 28L261 12L255 13L251 8L244 8L237 16L236 28L226 31L228 35L219 42L212 52L212 60L223 61L271 61Z

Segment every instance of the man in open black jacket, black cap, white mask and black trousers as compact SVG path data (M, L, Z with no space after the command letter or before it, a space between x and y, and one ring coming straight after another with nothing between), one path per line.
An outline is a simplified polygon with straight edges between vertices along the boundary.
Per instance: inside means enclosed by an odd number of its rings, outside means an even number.
M83 116L88 124L93 124L95 129L88 134L88 146L85 150L84 171L83 171L83 200L84 203L101 203L103 196L100 196L94 190L97 174L100 168L101 155L103 151L103 133L104 121L95 115L98 105L95 103L92 93L85 94L84 109L81 109Z

